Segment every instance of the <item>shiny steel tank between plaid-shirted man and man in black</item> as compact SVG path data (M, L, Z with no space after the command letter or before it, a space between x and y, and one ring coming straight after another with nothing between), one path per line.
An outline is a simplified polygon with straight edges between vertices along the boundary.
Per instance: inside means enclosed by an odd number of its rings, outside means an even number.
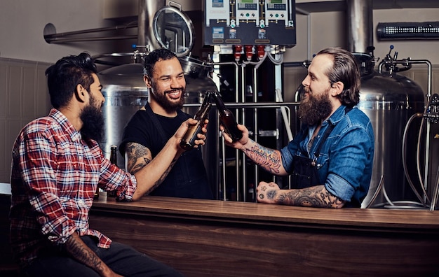
M117 145L117 165L125 169L125 159L119 152L123 128L133 114L148 101L148 90L143 82L142 64L123 64L97 73L102 84L105 102L104 139L100 146L109 158L111 145Z

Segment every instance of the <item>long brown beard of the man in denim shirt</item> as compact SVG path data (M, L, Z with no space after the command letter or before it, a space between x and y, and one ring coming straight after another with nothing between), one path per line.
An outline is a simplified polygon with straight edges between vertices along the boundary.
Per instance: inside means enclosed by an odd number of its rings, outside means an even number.
M325 120L331 112L332 104L329 95L324 92L318 97L313 97L311 94L308 94L308 97L300 101L297 114L304 124L313 126Z

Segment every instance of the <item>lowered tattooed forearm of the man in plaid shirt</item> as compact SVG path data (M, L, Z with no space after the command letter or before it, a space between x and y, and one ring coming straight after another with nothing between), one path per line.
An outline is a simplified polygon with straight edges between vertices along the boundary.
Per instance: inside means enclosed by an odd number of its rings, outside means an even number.
M119 274L115 274L112 269L107 267L107 264L104 264L104 262L97 257L96 253L88 248L86 243L82 241L78 234L74 233L72 236L69 236L64 248L75 260L85 264L87 267L90 267L100 276L120 276Z

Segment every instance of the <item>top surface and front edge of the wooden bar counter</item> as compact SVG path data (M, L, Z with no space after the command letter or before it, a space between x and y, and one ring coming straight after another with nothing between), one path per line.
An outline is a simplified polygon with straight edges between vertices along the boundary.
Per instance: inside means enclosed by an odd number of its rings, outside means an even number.
M306 208L236 201L147 196L140 201L98 200L92 211L112 211L160 217L246 222L285 227L421 232L439 234L439 213L429 210Z

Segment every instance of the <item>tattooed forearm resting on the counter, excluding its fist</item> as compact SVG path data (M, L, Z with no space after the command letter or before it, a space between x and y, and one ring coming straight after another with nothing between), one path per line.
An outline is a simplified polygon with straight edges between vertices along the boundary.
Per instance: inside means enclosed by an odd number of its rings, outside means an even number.
M279 204L316 208L342 208L345 203L344 200L328 192L324 185L290 190L280 194L277 200Z

